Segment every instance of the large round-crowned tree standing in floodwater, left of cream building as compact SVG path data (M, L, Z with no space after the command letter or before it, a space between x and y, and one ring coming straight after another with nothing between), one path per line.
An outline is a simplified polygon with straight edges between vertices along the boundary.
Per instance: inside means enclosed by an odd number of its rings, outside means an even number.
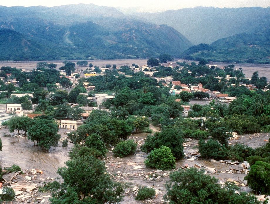
M28 139L37 145L49 150L51 146L57 146L60 134L58 132L58 124L53 120L34 119L32 126L28 130Z

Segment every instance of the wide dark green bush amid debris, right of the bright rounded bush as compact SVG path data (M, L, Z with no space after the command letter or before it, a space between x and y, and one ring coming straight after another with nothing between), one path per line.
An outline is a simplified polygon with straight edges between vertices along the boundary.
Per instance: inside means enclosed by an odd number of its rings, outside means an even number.
M209 139L206 143L204 140L200 139L199 153L202 158L205 159L228 159L229 150L225 145L221 145L218 141Z

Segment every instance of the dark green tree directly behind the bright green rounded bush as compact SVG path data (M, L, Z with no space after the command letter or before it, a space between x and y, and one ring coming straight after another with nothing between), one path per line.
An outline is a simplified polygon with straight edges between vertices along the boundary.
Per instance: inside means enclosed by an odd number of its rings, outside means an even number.
M176 127L164 127L161 132L156 132L153 136L148 135L141 150L149 153L153 149L166 146L171 149L173 156L180 159L184 156L183 132Z

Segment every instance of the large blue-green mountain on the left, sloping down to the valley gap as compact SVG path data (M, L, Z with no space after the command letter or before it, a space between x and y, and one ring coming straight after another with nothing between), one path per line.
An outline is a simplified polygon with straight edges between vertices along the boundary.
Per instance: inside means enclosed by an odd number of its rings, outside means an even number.
M3 35L20 34L14 42L4 41L8 52L0 49L1 58L11 60L149 58L163 53L176 57L192 45L170 26L126 18L113 7L94 4L0 6L0 30ZM28 51L12 52L22 39L29 42Z

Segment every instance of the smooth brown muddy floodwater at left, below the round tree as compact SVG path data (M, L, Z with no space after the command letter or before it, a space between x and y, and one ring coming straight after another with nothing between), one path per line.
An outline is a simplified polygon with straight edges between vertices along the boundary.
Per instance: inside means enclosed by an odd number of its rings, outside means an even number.
M0 151L0 166L6 167L16 164L21 169L40 169L44 176L57 177L58 167L64 166L68 159L68 152L73 147L69 143L67 147L62 147L62 143L58 143L58 147L52 147L50 151L34 146L34 143L27 138L4 137L3 133L10 134L8 129L0 129L0 137L2 139L3 149ZM64 130L58 132L61 136Z

